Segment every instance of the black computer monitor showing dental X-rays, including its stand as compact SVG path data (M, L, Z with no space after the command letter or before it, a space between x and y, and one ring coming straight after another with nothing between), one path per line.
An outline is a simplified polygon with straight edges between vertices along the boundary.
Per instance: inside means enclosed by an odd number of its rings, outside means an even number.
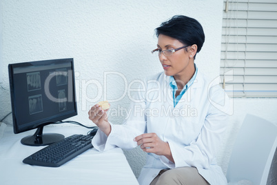
M21 143L42 146L63 139L43 134L43 126L77 115L73 59L9 64L8 69L14 133L37 128Z

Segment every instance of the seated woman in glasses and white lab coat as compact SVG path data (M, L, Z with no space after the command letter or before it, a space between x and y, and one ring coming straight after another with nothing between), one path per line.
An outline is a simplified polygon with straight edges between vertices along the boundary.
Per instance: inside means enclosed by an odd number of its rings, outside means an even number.
M174 16L156 28L156 50L164 72L141 83L132 114L112 124L96 104L90 119L99 126L92 144L99 151L140 146L147 153L139 184L227 184L216 164L229 99L198 70L194 59L205 41L195 19Z

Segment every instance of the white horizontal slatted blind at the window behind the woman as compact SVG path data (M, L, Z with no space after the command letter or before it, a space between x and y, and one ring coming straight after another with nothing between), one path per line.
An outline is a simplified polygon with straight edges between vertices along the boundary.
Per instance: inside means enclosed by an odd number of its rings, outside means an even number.
M277 97L277 0L223 4L223 88L230 97Z

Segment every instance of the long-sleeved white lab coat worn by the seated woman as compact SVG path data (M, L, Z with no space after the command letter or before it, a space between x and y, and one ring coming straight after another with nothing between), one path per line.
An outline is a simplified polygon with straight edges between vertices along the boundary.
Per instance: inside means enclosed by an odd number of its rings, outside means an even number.
M163 72L145 79L131 103L132 114L123 125L111 123L109 137L99 130L92 139L99 151L114 147L135 148L134 137L156 133L168 142L174 158L147 153L139 184L150 184L163 168L194 166L209 184L227 184L225 175L216 164L216 151L223 139L229 98L219 86L211 84L200 70L194 84L173 104L170 78ZM134 102L134 99L142 100ZM141 112L143 110L144 112Z

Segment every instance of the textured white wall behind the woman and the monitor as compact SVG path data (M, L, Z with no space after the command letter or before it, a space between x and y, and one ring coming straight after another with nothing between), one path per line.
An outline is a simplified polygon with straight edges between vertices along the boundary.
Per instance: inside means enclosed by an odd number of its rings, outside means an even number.
M6 88L0 88L0 119L11 110L8 64L43 59L74 58L79 115L71 120L92 125L88 110L104 96L111 101L112 108L127 108L130 103L127 95L120 101L112 100L124 94L125 81L130 85L134 79L162 71L158 58L150 52L156 48L154 28L174 14L194 17L202 24L206 41L196 64L211 78L219 75L223 8L220 0L2 0L0 3L3 19L0 73ZM104 81L104 72L119 74L107 75ZM107 93L103 92L104 88ZM245 114L260 115L276 123L276 105L277 99L234 99L234 115L229 120L225 146L218 155L223 171L226 172L232 142ZM110 121L121 124L123 118L124 114L110 117ZM5 121L12 124L10 117ZM139 149L125 153L134 173L139 175L143 153Z

